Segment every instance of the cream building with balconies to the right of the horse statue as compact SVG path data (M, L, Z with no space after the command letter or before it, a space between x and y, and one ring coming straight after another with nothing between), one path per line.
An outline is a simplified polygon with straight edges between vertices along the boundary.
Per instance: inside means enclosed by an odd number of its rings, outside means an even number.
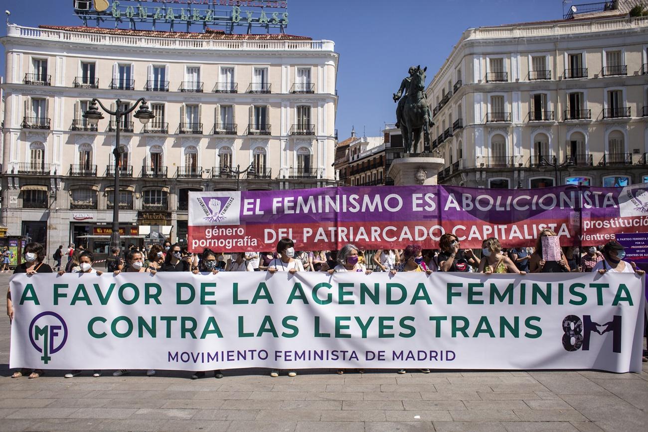
M648 16L629 16L636 3L466 30L426 89L439 183L648 181Z

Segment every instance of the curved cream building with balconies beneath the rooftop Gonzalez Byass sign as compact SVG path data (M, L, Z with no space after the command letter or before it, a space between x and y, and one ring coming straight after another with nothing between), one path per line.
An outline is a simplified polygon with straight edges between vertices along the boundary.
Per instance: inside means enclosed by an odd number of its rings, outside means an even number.
M332 41L8 24L1 42L0 223L48 256L71 242L106 253L114 205L124 244L157 232L182 241L191 191L337 184ZM92 98L128 109L140 97L156 116L148 124L82 117ZM115 144L126 150L118 203Z

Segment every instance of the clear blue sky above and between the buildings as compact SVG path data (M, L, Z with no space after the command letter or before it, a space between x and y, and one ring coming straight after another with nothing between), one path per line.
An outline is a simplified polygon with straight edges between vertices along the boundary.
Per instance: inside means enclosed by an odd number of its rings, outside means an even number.
M70 0L0 4L19 25L81 25ZM336 43L336 128L342 140L353 125L358 135L363 128L369 136L380 135L384 123L395 121L391 94L408 67L426 65L429 82L467 28L561 19L562 0L288 0L288 13L286 32ZM4 26L0 34L6 34Z

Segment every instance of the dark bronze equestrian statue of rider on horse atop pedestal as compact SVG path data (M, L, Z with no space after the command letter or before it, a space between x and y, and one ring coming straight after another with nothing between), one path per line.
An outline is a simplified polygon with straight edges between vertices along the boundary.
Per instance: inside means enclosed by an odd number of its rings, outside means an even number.
M417 148L421 141L421 131L424 146L430 146L430 128L434 126L434 122L424 93L427 69L421 69L420 65L410 67L410 76L402 80L399 91L393 94L394 102L399 103L396 108L396 127L400 128L406 153L420 153Z

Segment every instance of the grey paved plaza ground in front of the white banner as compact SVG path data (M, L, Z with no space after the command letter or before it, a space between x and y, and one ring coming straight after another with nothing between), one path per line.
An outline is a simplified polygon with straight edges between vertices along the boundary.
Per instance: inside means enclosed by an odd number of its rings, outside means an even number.
M9 277L0 274L0 286ZM164 371L28 380L10 378L9 334L5 316L0 431L648 430L648 363L641 374L308 370L270 378L252 369L222 380Z

